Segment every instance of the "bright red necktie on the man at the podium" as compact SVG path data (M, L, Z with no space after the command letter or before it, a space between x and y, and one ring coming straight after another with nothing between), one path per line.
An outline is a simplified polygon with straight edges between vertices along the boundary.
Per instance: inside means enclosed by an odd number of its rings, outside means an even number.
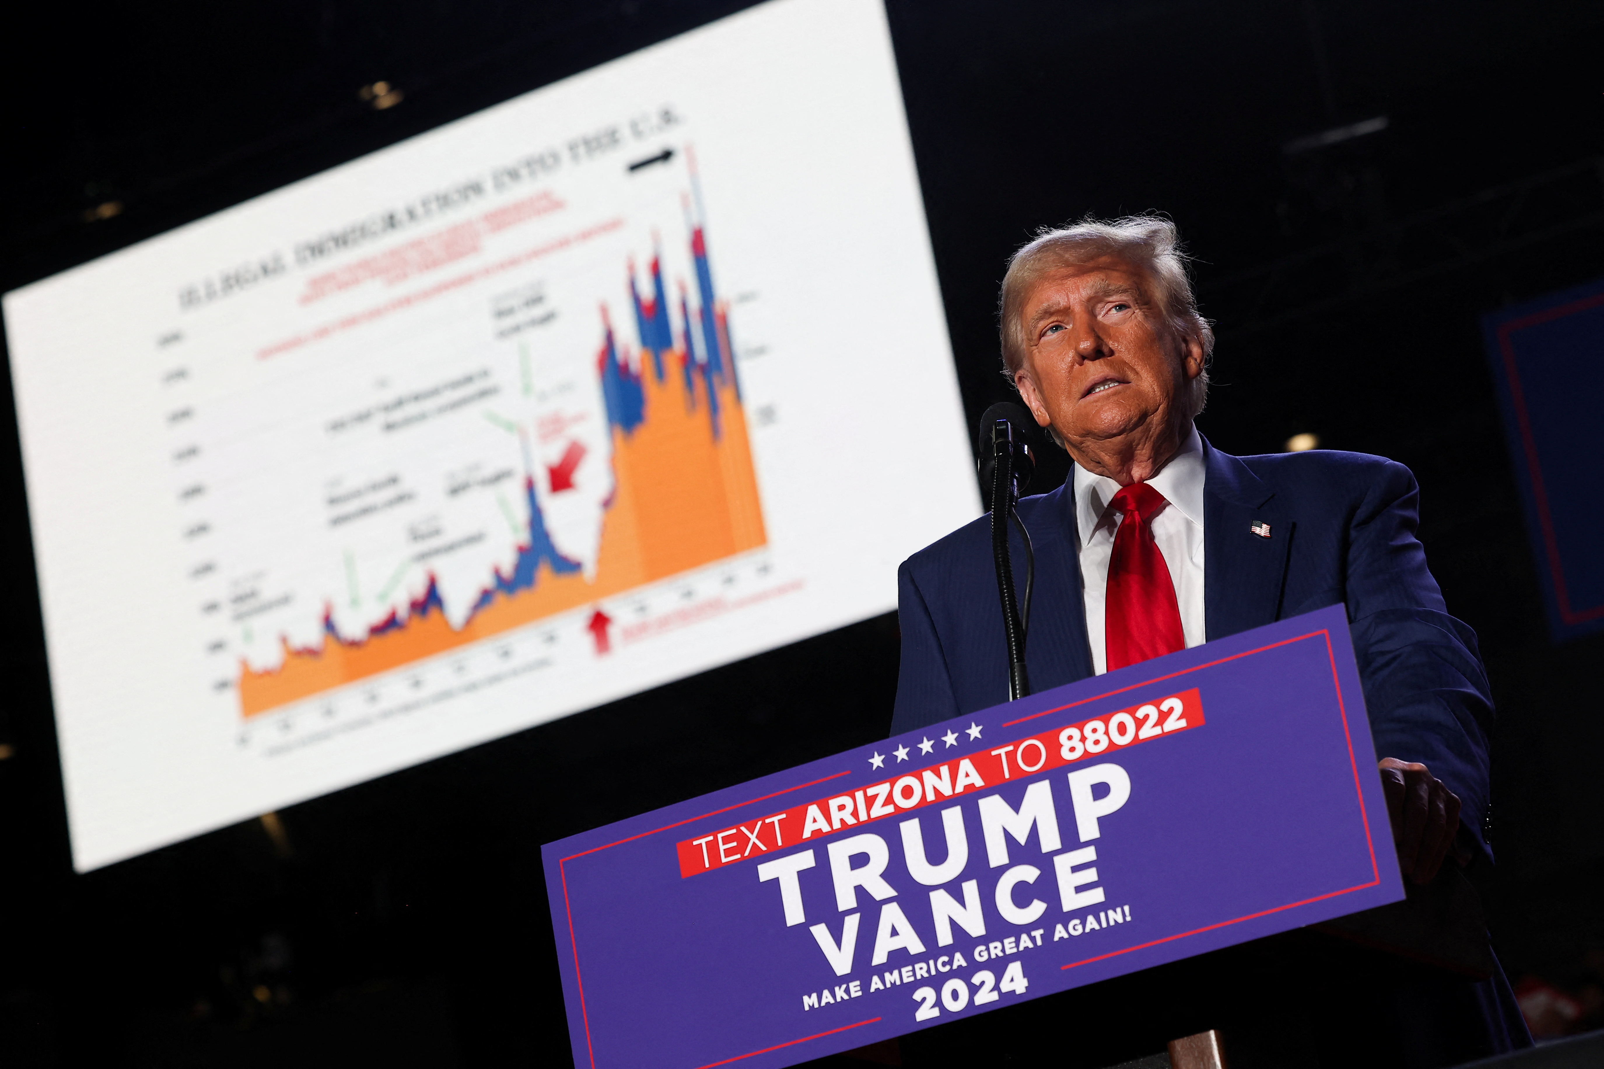
M1165 555L1153 542L1148 521L1168 505L1145 482L1120 487L1108 502L1124 513L1108 558L1108 591L1104 603L1104 638L1108 672L1187 647L1181 630L1181 606Z

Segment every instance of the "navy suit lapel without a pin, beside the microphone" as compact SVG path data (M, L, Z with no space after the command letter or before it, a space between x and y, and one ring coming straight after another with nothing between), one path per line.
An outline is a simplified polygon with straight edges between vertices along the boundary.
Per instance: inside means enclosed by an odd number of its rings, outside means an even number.
M1036 591L1031 598L1025 664L1033 691L1084 680L1092 673L1086 644L1086 601L1081 596L1081 556L1075 551L1075 494L1068 484L1047 494L1030 522L1036 550ZM1014 535L1015 539L1019 535ZM1023 593L1023 547L1015 542L1015 585ZM1206 551L1206 550L1205 550Z

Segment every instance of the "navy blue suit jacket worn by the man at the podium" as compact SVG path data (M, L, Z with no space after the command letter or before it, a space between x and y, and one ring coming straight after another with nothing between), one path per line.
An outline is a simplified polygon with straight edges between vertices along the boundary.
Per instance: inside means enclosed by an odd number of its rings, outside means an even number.
M1476 633L1447 614L1415 537L1404 465L1343 452L1232 457L1206 441L1208 638L1344 603L1376 755L1423 761L1480 837L1493 704ZM1092 675L1070 484L1019 503L1036 551L1025 662L1036 691ZM1248 527L1270 524L1261 539ZM1023 543L1012 537L1023 591ZM901 675L892 734L1007 700L1003 609L982 516L898 571ZM1484 845L1485 848L1485 845Z

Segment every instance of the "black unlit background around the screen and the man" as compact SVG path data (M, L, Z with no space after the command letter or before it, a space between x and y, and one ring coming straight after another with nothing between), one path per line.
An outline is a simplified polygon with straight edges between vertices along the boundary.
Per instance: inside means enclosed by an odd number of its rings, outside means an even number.
M0 285L741 6L13 8ZM1432 571L1498 699L1500 954L1513 979L1604 1002L1604 636L1546 635L1477 327L1604 274L1604 6L889 8L970 418L1006 396L993 306L1031 229L1171 213L1217 322L1209 439L1274 452L1312 431L1420 478ZM377 80L398 106L359 98ZM10 396L0 412L6 1064L566 1064L539 845L887 729L895 615L298 805L277 841L252 821L74 875ZM884 430L885 449L924 433L917 413ZM1047 468L1038 492L1065 460Z

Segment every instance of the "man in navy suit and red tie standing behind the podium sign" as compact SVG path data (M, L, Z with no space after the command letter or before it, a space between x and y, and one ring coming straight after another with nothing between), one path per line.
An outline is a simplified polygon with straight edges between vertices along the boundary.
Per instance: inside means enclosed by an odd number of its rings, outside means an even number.
M1214 338L1168 220L1044 231L1011 261L999 313L1009 378L1075 460L1060 489L1019 503L1036 558L1035 689L1343 603L1404 875L1424 885L1444 864L1490 861L1492 699L1476 635L1447 614L1415 537L1410 471L1360 454L1232 457L1198 434ZM1022 550L1015 535L1015 566ZM911 556L898 582L893 734L1007 700L988 521ZM1203 982L1262 987L1243 974L1262 962L1245 960L1225 955ZM1306 1018L1360 1037L1349 1048L1365 1064L1530 1043L1497 966L1480 982L1370 960L1338 971L1344 990L1365 989L1362 1005L1347 990L1335 1018ZM1219 1015L1264 1031L1225 1003Z

